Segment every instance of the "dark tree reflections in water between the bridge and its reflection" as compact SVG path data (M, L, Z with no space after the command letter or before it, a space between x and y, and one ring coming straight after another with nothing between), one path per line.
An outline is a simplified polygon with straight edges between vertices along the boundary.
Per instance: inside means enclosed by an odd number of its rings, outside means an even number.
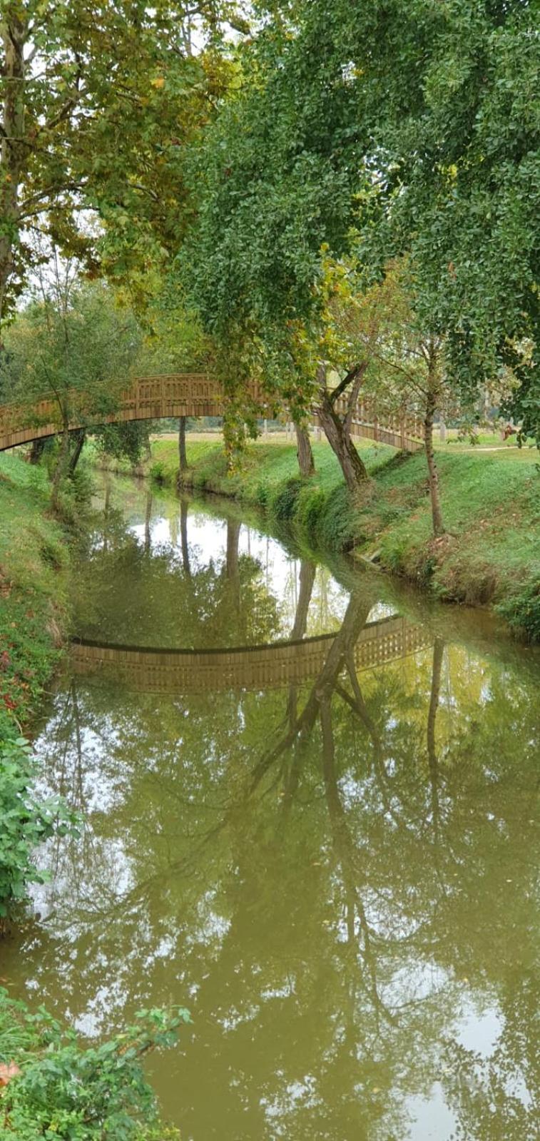
M106 501L105 501L106 502ZM152 495L139 540L120 511L106 505L100 526L81 550L75 597L80 634L147 646L203 648L272 641L280 599L261 564L239 552L240 523L226 523L225 552L201 558L188 541L187 503L179 512L179 544L152 540Z

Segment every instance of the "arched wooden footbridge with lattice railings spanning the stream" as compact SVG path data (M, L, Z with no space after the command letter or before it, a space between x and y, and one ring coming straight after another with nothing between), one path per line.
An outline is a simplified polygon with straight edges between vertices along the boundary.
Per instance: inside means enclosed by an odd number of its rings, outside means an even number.
M268 398L257 385L250 398L261 415L271 415ZM104 394L106 397L106 394ZM221 416L225 396L219 382L203 373L174 373L163 377L137 377L118 400L108 405L104 399L99 411L92 408L83 393L72 389L68 394L70 428L91 427L130 420L162 420L177 416ZM336 402L336 411L345 411L345 398ZM314 413L316 420L316 413ZM58 403L51 399L34 404L0 405L0 452L17 444L56 436L62 428ZM378 418L374 403L358 400L355 407L352 434L392 444L402 451L416 452L421 447L422 424L412 415Z

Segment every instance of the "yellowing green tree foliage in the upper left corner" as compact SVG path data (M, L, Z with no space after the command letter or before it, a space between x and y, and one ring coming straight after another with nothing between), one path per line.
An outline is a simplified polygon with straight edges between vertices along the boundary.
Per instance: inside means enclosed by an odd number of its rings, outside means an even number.
M227 82L217 44L234 9L202 6L195 52L187 3L5 0L0 318L35 265L25 234L38 227L144 294L185 228L185 147ZM79 226L84 210L104 228Z

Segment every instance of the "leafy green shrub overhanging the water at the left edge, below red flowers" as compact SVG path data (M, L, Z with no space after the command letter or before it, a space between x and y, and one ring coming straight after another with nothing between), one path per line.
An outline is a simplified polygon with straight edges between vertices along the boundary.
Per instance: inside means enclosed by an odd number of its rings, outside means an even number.
M47 879L34 865L34 849L55 833L78 835L75 818L62 800L37 799L35 775L24 737L0 742L0 924L14 917L29 883Z

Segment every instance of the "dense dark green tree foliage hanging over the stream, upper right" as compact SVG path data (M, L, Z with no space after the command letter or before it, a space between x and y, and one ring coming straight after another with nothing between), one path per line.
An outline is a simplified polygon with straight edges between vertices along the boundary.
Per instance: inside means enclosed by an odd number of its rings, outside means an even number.
M258 345L266 365L289 323L321 315L324 246L354 249L364 285L408 254L418 322L445 339L454 394L468 404L510 365L506 414L535 434L538 5L263 8L241 91L195 163L185 282L204 327Z

